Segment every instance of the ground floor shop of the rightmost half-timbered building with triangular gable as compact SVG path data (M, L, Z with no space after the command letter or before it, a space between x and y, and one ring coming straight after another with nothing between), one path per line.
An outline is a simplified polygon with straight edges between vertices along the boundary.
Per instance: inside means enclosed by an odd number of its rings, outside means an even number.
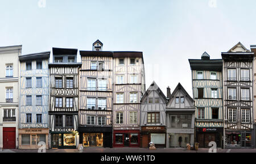
M225 131L225 148L250 148L253 146L253 131Z

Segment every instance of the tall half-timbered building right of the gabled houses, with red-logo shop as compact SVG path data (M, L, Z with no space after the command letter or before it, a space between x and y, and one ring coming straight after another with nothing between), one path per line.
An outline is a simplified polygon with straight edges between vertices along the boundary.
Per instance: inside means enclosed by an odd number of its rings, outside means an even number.
M195 142L208 147L214 141L222 147L222 60L210 60L205 52L201 60L189 59L192 70L192 90L196 107Z

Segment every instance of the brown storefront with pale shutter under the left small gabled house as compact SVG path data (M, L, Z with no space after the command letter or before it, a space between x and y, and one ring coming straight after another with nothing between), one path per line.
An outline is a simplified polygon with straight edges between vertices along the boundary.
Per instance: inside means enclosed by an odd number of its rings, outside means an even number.
M166 127L147 126L141 127L142 148L148 148L148 143L153 142L156 148L166 147Z

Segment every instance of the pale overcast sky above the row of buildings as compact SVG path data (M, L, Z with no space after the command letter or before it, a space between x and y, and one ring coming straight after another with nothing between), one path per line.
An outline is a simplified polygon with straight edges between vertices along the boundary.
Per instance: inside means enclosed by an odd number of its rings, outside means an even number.
M42 3L38 3L42 1ZM0 0L0 47L142 51L146 87L166 94L181 83L192 96L188 58L221 58L239 41L256 44L255 0Z

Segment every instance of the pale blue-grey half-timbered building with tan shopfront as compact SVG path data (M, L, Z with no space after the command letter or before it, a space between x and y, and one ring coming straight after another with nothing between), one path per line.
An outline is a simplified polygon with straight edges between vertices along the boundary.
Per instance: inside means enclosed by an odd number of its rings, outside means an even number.
M48 149L50 52L19 56L19 149Z

